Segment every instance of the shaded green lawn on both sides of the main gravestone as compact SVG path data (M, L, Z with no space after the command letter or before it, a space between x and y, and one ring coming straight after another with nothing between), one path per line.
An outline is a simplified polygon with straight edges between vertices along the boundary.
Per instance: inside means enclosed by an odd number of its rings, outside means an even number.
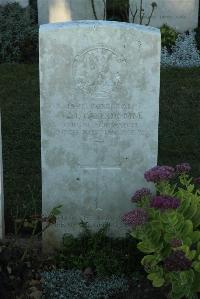
M0 65L7 224L41 209L37 65ZM200 174L200 69L161 72L159 163L189 162Z

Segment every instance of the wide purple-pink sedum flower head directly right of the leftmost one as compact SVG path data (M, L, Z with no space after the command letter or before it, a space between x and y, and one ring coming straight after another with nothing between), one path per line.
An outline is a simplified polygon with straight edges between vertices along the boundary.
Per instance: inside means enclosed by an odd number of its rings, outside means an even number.
M150 203L151 208L160 210L177 209L179 206L179 199L172 196L154 196Z

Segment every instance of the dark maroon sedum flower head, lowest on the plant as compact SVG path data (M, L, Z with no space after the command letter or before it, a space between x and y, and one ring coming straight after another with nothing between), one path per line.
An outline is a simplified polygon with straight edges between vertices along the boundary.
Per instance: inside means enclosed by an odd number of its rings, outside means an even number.
M164 266L167 271L185 271L191 268L192 261L190 261L185 253L181 250L172 252L164 261Z

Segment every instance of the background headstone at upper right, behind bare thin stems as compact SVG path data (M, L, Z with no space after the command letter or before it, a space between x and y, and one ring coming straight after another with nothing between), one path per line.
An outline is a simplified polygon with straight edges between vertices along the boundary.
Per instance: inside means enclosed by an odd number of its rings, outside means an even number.
M157 3L157 8L151 18L151 26L161 27L163 24L168 24L178 32L184 32L197 27L199 0L144 0L144 24L148 23L148 17L152 10L152 2ZM136 5L138 8L140 7L140 0L130 0L130 7L133 12L135 12ZM139 23L139 13L137 14L136 23Z

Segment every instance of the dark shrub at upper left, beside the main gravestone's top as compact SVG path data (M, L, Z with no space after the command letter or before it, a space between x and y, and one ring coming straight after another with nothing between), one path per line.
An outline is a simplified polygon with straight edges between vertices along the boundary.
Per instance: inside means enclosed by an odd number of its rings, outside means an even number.
M38 26L34 11L13 3L0 6L0 63L38 60Z

